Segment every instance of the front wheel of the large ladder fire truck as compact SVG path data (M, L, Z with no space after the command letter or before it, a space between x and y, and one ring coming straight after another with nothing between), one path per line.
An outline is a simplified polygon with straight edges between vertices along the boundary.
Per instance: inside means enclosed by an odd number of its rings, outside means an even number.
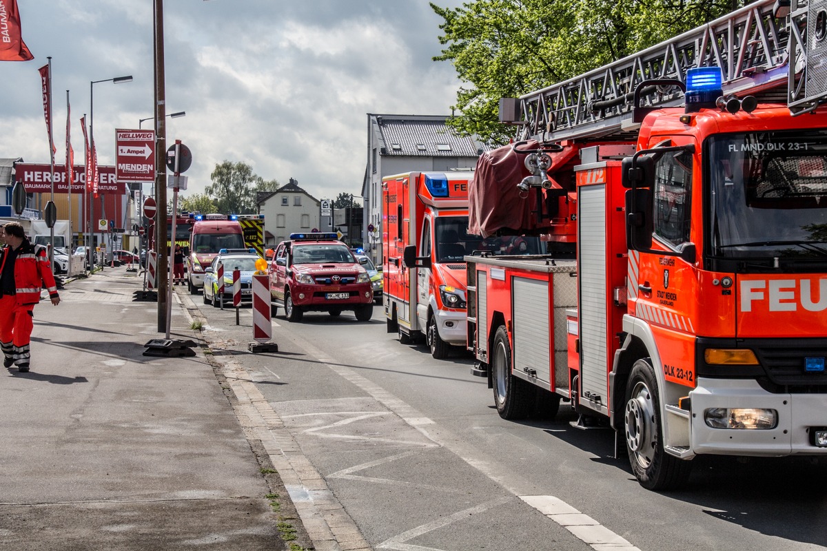
M672 490L689 478L692 463L663 449L660 397L652 362L638 359L626 383L624 408L626 450L632 473L648 490Z

